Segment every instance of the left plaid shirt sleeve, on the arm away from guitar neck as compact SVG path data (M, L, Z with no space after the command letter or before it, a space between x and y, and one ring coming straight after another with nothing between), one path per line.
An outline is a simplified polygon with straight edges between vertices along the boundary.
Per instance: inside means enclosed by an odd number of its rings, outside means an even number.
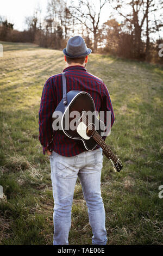
M39 141L43 146L43 155L45 155L46 149L52 151L53 147L52 114L54 109L54 87L52 82L47 80L42 90L39 109Z

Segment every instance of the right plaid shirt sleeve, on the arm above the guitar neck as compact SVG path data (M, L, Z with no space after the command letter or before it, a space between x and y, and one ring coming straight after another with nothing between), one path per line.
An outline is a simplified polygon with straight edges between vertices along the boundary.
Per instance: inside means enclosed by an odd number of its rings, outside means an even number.
M101 103L101 109L100 111L104 111L104 124L107 129L107 133L110 132L112 125L115 122L115 115L114 115L114 110L112 108L112 103L109 95L108 88L103 82L103 97L102 97L102 103ZM108 120L107 118L107 112L110 112L111 114L111 119ZM105 139L106 136L103 136L103 139Z

